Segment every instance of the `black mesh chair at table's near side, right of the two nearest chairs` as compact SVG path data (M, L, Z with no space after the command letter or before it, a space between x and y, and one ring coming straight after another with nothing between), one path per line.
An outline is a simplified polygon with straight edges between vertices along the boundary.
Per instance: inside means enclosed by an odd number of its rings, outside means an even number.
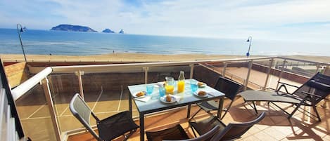
M214 126L220 126L218 133L216 133L211 140L234 140L241 137L248 129L250 129L255 123L258 123L264 119L266 113L262 112L257 119L244 123L229 123L227 126L216 116L210 116L208 119L202 121L189 121L189 124L193 130L193 134L196 136L194 130L199 135L203 135L208 132Z

